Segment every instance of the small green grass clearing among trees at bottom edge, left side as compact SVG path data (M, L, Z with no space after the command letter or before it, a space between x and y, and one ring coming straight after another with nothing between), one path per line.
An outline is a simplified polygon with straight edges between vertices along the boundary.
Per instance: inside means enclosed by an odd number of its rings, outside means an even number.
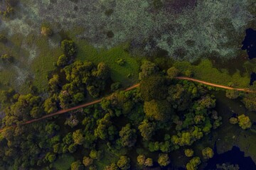
M75 161L75 159L74 159L74 157L71 156L71 154L63 154L62 156L60 156L57 159L57 161L55 161L53 163L53 167L56 170L69 170L70 169L70 165L74 161Z

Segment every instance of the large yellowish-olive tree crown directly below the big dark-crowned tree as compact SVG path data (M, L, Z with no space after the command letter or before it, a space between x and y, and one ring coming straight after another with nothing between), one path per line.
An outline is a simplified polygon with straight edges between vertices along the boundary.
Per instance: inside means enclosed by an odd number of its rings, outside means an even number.
M145 101L144 112L148 118L166 122L171 116L171 106L167 101Z

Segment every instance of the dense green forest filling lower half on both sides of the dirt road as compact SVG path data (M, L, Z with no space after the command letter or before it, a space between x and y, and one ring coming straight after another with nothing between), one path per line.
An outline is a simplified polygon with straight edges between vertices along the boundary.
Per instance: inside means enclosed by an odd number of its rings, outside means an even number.
M75 60L77 48L72 40L63 40L61 48L63 55L48 77L47 96L38 94L34 86L26 95L13 89L1 91L5 113L1 169L61 169L56 162L67 155L75 159L63 169L164 167L171 164L169 153L183 149L190 170L197 169L201 159L213 157L210 147L196 155L190 146L222 124L213 93L218 89L175 79L193 77L189 69L172 66L164 71L161 65L144 60L139 88L122 91L121 84L110 78L107 64ZM24 125L102 96L100 104ZM242 97L247 108L256 110L255 94L226 91L226 96ZM252 125L246 115L230 118L230 123L242 129Z

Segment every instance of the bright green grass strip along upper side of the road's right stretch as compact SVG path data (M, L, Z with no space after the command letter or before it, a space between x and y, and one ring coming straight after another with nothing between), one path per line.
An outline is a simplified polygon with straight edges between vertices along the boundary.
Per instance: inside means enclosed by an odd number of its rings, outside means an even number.
M228 86L230 83L235 87L248 87L250 82L250 74L240 75L239 70L235 74L229 74L228 70L216 69L210 60L202 60L198 65L191 65L189 62L176 62L174 64L179 70L186 71L190 69L195 79L208 81L210 83L222 84ZM228 67L228 66L227 66Z

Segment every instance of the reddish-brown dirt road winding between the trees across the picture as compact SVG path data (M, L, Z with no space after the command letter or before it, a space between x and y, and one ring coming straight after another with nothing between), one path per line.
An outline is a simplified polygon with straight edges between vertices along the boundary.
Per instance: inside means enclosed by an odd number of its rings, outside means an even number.
M220 85L220 84L212 84L212 83L209 83L207 81L201 81L201 80L198 80L198 79L193 79L193 78L189 78L189 77L175 77L175 79L181 79L181 80L188 80L188 81L194 81L194 82L198 82L200 84L206 84L208 86L215 86L215 87L218 87L218 88L221 88L221 89L228 89L228 90L235 90L235 91L244 91L244 92L247 92L247 93L256 93L256 91L252 91L250 89L241 89L241 88L234 88L234 87L230 87L230 86L223 86L223 85ZM135 89L139 86L140 84L135 84L134 86L130 86L129 88L125 89L124 91L129 91L129 90L132 90L132 89ZM102 101L102 98L100 98L99 100L97 101L92 101L90 103L85 103L85 104L82 104L82 105L79 105L79 106L75 106L73 108L67 108L67 109L63 109L63 110L60 110L58 112L55 112L55 113L50 113L48 115L44 115L43 117L41 118L36 118L36 119L33 119L33 120L28 120L26 121L25 123L23 123L22 125L27 125L27 124L30 124L30 123L34 123L34 122L38 122L40 120L43 120L43 119L46 119L46 118L50 118L50 117L53 117L54 115L60 115L60 114L63 114L63 113L67 113L69 111L75 111L77 110L78 108L85 108L87 106L91 106L91 105L94 105L96 103L100 103L100 101ZM16 125L14 125L15 127ZM4 129L0 129L0 132L3 132Z

